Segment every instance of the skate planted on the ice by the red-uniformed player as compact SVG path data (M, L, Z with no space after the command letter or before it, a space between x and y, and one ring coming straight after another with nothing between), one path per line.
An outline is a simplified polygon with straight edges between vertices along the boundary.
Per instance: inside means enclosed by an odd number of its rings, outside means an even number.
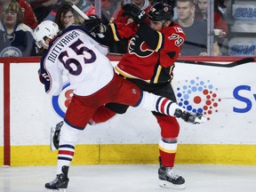
M158 169L159 186L163 188L184 189L185 180L172 171L172 167L161 166Z

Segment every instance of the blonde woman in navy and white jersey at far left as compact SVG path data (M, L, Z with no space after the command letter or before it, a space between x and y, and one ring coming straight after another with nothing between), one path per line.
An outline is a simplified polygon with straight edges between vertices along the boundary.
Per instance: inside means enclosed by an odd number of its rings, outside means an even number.
M23 12L16 0L6 1L0 21L0 57L36 55L32 29L23 23Z

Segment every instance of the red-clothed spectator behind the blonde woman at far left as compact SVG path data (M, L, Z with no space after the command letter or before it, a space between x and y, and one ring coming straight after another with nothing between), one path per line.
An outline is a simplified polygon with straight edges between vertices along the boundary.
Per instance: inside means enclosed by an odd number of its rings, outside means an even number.
M6 0L0 0L0 12L2 12L3 4L6 2ZM23 22L24 24L28 25L28 27L34 29L38 25L38 22L36 20L36 16L27 1L25 0L17 0L17 2L20 4L21 10L24 14Z

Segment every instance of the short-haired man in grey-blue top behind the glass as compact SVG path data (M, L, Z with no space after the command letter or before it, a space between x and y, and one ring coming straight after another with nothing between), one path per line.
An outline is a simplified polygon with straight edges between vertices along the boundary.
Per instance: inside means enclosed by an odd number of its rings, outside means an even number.
M194 18L196 6L193 0L177 0L178 20L186 34L186 41L182 45L181 55L207 55L207 22ZM213 45L214 55L220 54L217 43Z

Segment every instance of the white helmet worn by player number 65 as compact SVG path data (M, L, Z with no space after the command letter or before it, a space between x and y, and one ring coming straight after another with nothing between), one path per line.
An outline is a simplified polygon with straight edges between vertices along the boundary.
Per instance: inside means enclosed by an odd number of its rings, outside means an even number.
M59 33L59 27L56 23L52 22L52 20L44 20L41 22L34 30L34 38L36 40L36 45L39 49L44 46L48 46L45 44L44 37L48 37L50 39L57 36Z

